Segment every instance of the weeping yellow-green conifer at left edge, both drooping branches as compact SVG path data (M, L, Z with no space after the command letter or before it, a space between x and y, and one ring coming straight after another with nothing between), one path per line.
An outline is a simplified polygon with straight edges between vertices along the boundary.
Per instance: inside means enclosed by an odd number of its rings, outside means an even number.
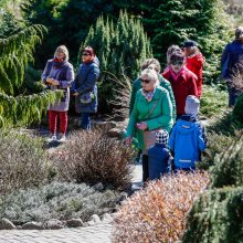
M40 120L47 104L62 96L53 92L20 94L25 67L33 61L34 47L42 40L44 30L41 25L33 25L8 39L0 39L0 126Z

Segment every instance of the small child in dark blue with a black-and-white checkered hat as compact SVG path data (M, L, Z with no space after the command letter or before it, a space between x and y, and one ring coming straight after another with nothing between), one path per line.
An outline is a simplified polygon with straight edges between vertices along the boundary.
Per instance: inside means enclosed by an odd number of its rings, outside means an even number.
M148 149L149 179L157 180L168 172L170 151L167 148L169 134L161 129L156 131L156 144Z

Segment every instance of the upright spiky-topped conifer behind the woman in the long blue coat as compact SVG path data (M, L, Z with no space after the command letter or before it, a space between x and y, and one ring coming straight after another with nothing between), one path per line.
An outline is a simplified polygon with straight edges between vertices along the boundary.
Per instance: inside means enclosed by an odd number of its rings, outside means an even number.
M115 80L124 76L136 78L141 62L152 56L149 39L140 21L130 18L126 12L120 12L115 25L108 18L98 18L96 24L89 29L81 50L86 45L95 50L101 61L99 107L107 107L109 101L115 98Z

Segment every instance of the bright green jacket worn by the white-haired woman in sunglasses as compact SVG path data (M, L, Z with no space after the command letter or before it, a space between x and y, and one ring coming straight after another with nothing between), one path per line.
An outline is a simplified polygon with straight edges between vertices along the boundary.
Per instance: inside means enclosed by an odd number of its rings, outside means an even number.
M154 106L155 108L152 109ZM151 109L152 113L149 116ZM144 150L144 130L136 128L136 124L141 122L147 123L148 130L163 128L170 133L173 125L172 105L169 94L163 87L158 86L156 88L156 93L150 102L148 102L141 94L141 89L137 92L135 97L134 109L129 117L126 136L134 137L136 134L138 147Z

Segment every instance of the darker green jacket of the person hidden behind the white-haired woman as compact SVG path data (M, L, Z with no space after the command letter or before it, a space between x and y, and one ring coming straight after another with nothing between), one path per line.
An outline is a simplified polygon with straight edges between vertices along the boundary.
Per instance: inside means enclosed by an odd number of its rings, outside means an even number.
M176 118L177 118L177 107L176 107L176 101L175 101L175 96L173 96L173 91L172 87L170 85L170 82L167 81L165 77L162 77L160 74L159 76L159 82L160 82L160 86L166 88L169 93L169 97L172 104L172 118L173 118L173 123L176 123ZM136 97L136 93L141 88L141 80L137 78L134 83L133 83L133 89L131 89L131 95L130 95L130 104L129 104L129 114L131 114L133 108L134 108L134 103L135 103L135 97Z

